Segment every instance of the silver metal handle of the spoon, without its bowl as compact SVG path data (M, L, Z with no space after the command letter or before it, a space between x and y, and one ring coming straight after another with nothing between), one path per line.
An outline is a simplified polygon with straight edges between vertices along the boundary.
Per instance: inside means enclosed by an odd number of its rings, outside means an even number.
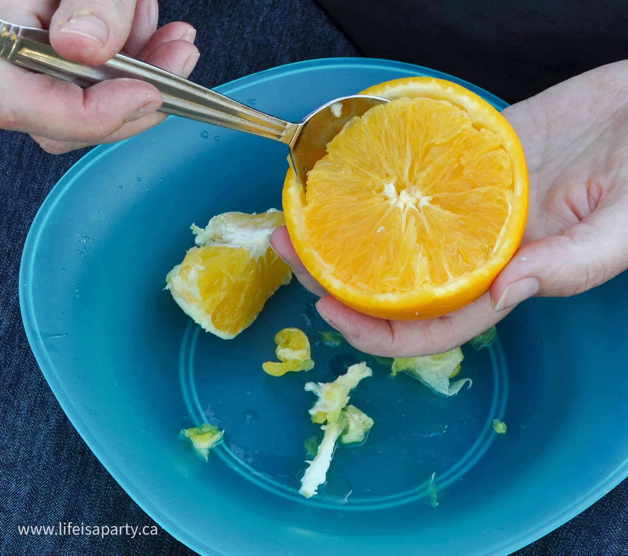
M95 67L67 60L50 46L48 31L14 25L2 19L0 58L82 88L107 79L139 79L151 83L161 92L163 104L160 112L229 127L286 144L290 143L297 127L297 124L254 110L131 56L116 54L111 60Z

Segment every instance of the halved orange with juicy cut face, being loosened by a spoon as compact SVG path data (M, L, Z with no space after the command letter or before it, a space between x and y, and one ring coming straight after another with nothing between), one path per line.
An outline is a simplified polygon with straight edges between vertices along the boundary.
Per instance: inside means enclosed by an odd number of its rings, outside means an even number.
M517 250L528 170L507 120L430 77L381 83L391 99L352 119L283 188L291 240L334 297L381 318L450 313L488 291Z

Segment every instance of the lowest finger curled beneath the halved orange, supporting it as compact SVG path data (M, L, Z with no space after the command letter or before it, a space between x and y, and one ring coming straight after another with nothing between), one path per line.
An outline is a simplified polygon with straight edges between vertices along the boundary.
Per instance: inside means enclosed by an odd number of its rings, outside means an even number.
M387 321L354 311L332 296L317 302L318 313L355 348L384 357L445 353L489 329L510 311L495 313L489 294L435 319Z

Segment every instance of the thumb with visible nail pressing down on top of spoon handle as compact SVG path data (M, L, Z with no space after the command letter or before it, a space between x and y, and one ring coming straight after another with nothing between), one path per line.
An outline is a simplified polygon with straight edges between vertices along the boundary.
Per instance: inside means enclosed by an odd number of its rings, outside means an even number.
M99 65L122 50L136 0L61 0L50 22L50 43L70 60Z

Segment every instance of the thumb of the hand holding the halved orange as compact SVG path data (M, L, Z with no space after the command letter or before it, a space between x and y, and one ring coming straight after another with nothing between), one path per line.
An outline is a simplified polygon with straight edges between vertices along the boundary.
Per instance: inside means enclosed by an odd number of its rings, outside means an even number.
M560 235L521 247L490 288L495 311L534 296L573 296L627 269L628 241L614 216L596 214Z

